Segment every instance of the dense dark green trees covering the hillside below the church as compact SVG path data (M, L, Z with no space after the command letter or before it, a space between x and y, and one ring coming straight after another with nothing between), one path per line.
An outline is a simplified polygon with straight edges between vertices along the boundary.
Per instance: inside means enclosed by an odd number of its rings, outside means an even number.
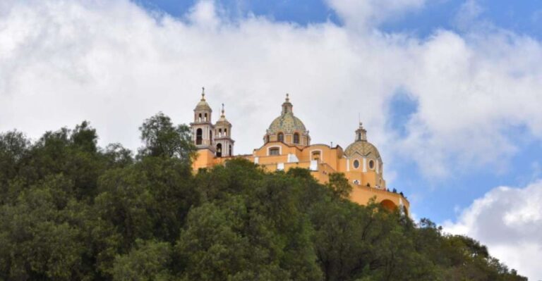
M351 203L342 174L193 173L186 125L139 130L137 153L88 122L0 134L0 280L526 280L474 239Z

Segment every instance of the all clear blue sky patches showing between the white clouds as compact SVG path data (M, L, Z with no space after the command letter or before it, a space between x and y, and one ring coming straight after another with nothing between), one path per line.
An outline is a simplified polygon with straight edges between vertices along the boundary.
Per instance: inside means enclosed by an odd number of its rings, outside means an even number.
M178 18L189 12L196 1L138 0L135 3L150 11L163 11ZM383 32L406 32L423 39L435 30L453 30L459 34L467 32L457 23L465 1L430 1L418 11L410 11L388 20L378 28ZM219 6L235 20L248 13L262 15L278 22L308 25L332 22L342 25L337 13L323 1L219 1ZM478 1L481 10L478 21L489 22L496 27L512 30L518 34L541 38L542 1ZM404 136L409 115L416 111L416 101L405 94L397 94L390 104L390 126L399 136ZM509 135L521 136L524 128L517 128ZM527 138L529 139L529 138ZM518 138L519 151L506 159L504 167L488 165L462 171L454 177L435 182L421 175L418 166L408 158L401 158L397 167L396 186L405 194L415 194L413 211L416 216L428 217L436 222L454 220L457 210L469 206L473 199L498 186L523 186L536 177L537 165L542 158L542 144ZM469 166L469 163L462 163Z

